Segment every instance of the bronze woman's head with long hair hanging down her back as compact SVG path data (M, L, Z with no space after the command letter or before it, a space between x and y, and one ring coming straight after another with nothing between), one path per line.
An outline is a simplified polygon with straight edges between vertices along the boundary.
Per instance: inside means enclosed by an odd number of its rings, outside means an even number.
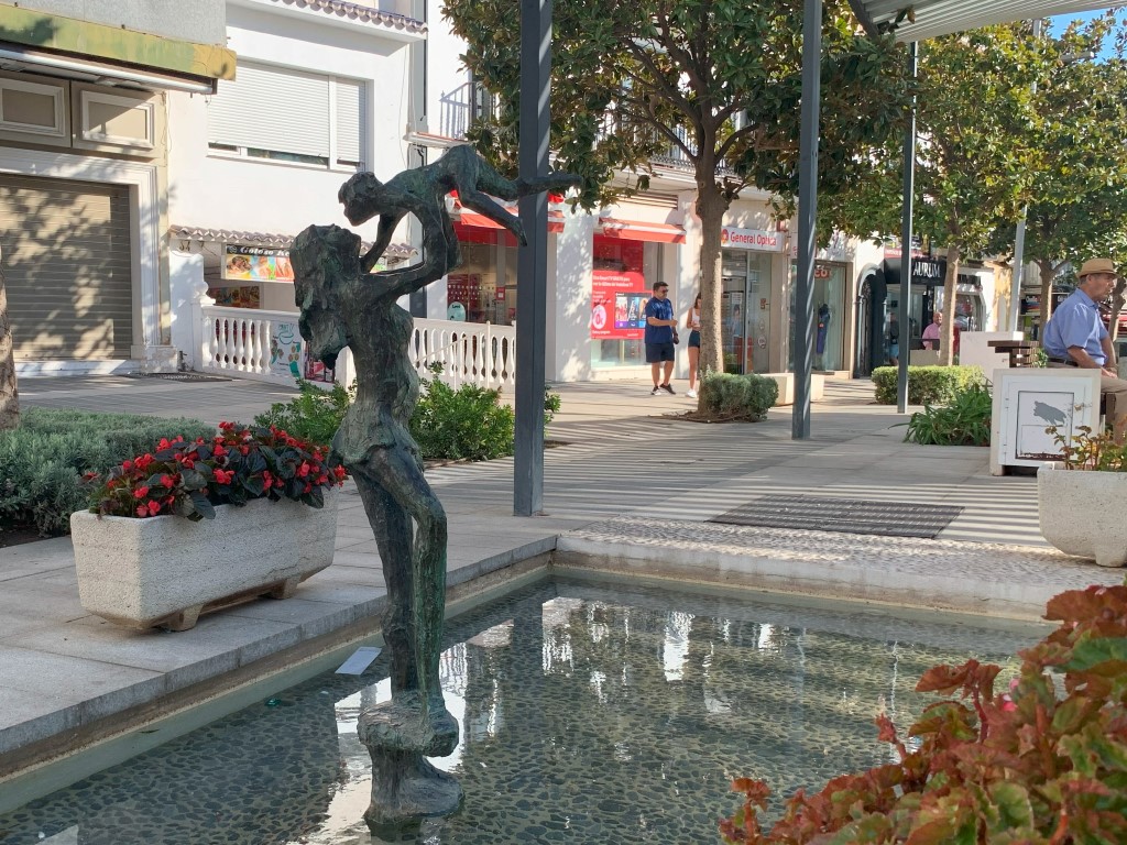
M301 336L309 343L309 354L327 367L334 367L337 355L348 346L338 310L336 292L360 277L360 235L340 226L309 226L290 249L293 265L294 301L301 309Z

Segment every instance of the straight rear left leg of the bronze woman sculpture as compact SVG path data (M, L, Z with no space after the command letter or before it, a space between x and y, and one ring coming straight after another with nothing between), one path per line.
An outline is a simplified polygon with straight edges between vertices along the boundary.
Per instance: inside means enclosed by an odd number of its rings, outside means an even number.
M364 502L364 513L375 534L388 587L388 605L381 619L383 640L391 649L392 695L418 686L415 657L415 622L411 614L412 542L407 513L369 473L366 465L349 468Z

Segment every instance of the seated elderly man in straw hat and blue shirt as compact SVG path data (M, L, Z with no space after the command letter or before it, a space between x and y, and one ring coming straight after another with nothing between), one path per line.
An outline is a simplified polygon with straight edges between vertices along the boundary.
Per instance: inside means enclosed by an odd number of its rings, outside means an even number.
M1049 366L1099 370L1100 392L1104 395L1107 417L1116 443L1127 437L1127 381L1119 379L1111 338L1100 318L1099 303L1115 287L1119 273L1110 258L1092 258L1076 274L1076 290L1066 299L1045 327L1041 346Z

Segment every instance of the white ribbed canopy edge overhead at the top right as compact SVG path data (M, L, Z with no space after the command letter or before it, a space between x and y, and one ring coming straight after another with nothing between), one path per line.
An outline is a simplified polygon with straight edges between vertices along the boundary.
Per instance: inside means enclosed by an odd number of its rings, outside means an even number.
M896 29L896 41L908 44L992 24L1108 9L1113 3L1108 0L850 0L850 6L870 35L911 8L914 20L905 18Z

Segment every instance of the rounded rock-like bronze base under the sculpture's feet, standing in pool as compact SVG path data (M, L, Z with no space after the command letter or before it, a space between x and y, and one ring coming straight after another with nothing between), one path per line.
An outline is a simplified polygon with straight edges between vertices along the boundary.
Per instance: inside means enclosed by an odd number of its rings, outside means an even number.
M401 694L360 714L360 741L372 755L372 803L364 813L374 834L416 827L462 803L462 786L426 757L445 757L458 746L458 722L440 699L433 705Z

